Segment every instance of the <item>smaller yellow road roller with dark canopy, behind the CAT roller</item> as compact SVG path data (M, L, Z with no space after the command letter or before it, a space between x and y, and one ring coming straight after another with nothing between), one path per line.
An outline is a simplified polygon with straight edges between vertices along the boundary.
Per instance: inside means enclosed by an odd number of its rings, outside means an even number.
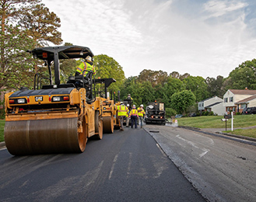
M116 119L116 110L114 107L114 99L110 98L109 92L107 92L108 86L116 82L114 78L97 78L94 79L95 84L103 84L103 91L100 91L99 94L103 96L103 110L102 110L102 119L103 119L103 133L112 134L114 133L114 125L117 123Z

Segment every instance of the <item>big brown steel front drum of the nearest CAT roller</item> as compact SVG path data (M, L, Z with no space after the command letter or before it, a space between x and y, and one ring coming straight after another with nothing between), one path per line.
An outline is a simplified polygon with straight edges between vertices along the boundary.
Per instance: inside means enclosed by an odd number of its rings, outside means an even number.
M5 122L5 145L12 155L82 152L86 136L77 132L77 117Z

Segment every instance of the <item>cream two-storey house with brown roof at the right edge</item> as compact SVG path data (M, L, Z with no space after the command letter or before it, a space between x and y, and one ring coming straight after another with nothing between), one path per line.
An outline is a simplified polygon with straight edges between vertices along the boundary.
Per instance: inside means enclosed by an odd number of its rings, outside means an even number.
M248 106L256 106L256 90L228 89L223 96L226 112L242 112Z

